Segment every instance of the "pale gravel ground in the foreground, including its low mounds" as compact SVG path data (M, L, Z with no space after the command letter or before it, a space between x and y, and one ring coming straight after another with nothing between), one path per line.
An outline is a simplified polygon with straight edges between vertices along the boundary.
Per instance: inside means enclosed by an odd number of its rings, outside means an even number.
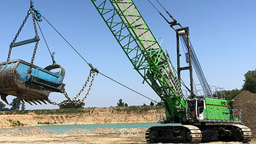
M138 129L70 129L64 134L47 129L0 129L0 143L146 143L145 128ZM222 144L214 142L213 144ZM239 144L229 142L225 144ZM251 143L256 143L252 140Z

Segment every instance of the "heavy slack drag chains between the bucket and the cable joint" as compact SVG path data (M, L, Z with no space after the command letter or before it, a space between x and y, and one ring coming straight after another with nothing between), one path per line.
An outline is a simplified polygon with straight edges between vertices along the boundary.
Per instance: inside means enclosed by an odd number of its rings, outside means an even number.
M50 101L49 99L49 102L52 104L52 105L67 105L67 104L75 104L75 105L79 105L80 103L84 102L84 100L87 98L87 96L89 95L90 91L91 91L91 87L94 83L94 76L96 75L96 71L94 69L91 69L90 73L89 73L89 76L87 77L87 80L86 80L86 83L84 83L83 87L81 88L81 90L79 91L79 93L73 98L73 99L70 99L70 97L68 96L67 94L67 91L65 91L65 88L62 88L61 91L63 91L63 94L64 96L67 98L67 102L61 102L61 103L57 103L57 102L52 102ZM92 76L91 76L92 75ZM87 84L89 83L89 80L91 79L90 81L90 85L89 85L89 88L86 92L86 95L83 96L83 99L79 100L79 101L75 101L75 99L77 99L80 94L83 93L84 89L86 88Z

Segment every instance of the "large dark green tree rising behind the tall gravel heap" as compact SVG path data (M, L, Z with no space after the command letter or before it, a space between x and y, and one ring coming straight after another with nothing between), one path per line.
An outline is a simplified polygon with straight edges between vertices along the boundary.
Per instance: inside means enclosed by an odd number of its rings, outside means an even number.
M252 93L256 93L256 69L252 71L246 72L244 75L244 86L243 90L250 91Z

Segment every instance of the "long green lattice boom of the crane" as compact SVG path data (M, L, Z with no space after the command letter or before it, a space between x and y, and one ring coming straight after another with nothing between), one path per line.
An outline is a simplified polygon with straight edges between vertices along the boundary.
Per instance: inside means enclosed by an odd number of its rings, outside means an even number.
M167 117L185 115L181 84L157 39L131 0L91 0L143 80L165 102Z

